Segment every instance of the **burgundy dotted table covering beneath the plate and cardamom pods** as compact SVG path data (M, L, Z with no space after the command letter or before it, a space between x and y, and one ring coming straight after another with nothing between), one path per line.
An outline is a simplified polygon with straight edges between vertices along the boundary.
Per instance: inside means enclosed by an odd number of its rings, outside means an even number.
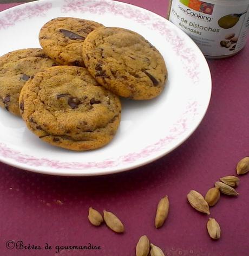
M168 1L122 1L166 16ZM1 5L0 10L8 5ZM249 174L241 176L238 198L221 196L211 208L221 239L207 233L208 216L187 202L194 189L206 194L220 177L235 174L240 158L249 155L249 42L228 59L208 60L213 89L207 114L193 135L158 161L121 174L100 177L57 177L0 164L0 255L132 256L141 235L165 255L246 256L248 245ZM154 217L161 197L170 207L165 225ZM110 210L126 231L91 226L88 207ZM6 249L8 240L24 245L53 246L51 250ZM100 245L99 251L61 251L55 246Z

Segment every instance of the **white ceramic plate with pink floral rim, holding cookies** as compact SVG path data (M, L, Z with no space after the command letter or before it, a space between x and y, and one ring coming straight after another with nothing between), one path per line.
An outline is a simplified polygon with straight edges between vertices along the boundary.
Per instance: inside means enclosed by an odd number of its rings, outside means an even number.
M112 0L40 0L0 13L0 55L40 47L42 25L55 17L78 17L140 33L159 49L168 68L163 93L149 101L122 99L122 119L104 148L74 152L50 146L21 118L0 109L0 160L53 175L89 176L129 170L166 155L200 124L211 97L211 75L195 43L153 12Z

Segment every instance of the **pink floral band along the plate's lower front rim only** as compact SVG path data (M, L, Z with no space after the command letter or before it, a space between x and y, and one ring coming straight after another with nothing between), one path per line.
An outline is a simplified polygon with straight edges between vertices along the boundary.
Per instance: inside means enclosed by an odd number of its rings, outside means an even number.
M116 167L120 164L125 168L126 165L134 163L141 158L147 158L153 153L160 152L168 146L169 143L177 141L182 135L184 135L189 125L199 116L198 113L198 101L190 101L186 107L186 111L182 114L181 118L169 130L165 138L160 139L158 142L146 146L139 152L132 152L125 156L118 158L106 159L102 162L62 162L51 160L48 158L37 158L30 155L25 155L20 151L9 148L6 144L0 143L0 155L4 158L11 158L18 163L28 164L30 166L44 166L53 169L68 169L68 170L82 170L82 169L106 169Z

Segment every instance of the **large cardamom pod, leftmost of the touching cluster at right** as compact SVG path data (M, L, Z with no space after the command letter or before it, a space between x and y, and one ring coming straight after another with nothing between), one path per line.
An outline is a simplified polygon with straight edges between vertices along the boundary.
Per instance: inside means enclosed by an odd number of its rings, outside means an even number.
M195 210L198 210L201 213L210 214L208 203L199 192L191 190L188 193L187 198L188 202Z

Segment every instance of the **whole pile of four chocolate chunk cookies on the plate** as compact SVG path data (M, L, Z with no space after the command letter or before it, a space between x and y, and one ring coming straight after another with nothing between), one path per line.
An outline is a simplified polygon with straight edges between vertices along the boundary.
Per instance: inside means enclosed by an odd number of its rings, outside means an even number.
M0 57L0 106L61 148L100 148L121 119L119 96L148 100L165 87L163 57L141 35L80 18L55 18L39 35L43 49Z

